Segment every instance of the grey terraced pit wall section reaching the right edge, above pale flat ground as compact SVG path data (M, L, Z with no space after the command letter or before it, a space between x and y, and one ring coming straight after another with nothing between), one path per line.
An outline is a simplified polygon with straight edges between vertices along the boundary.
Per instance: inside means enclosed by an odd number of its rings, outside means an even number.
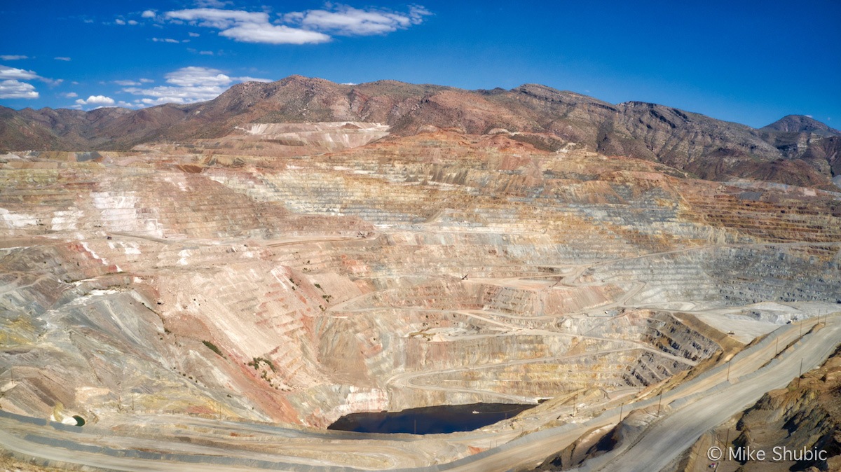
M585 273L594 281L643 281L634 305L685 300L706 307L757 302L841 302L838 246L756 244L618 260Z

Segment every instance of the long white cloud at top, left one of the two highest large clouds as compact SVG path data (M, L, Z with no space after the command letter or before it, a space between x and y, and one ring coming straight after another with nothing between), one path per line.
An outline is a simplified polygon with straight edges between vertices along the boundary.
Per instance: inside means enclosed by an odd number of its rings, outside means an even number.
M204 28L220 29L220 36L243 43L270 45L305 45L325 43L327 34L292 28L269 22L268 13L225 10L220 8L191 8L167 12L171 21L183 21Z

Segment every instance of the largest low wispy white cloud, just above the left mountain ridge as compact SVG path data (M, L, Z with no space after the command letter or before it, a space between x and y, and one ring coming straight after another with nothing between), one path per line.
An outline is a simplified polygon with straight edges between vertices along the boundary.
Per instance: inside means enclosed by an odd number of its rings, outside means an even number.
M142 97L136 104L152 106L163 103L193 103L219 97L230 84L242 81L270 81L254 77L231 77L209 67L182 67L166 75L166 86L151 88L126 87L123 92Z

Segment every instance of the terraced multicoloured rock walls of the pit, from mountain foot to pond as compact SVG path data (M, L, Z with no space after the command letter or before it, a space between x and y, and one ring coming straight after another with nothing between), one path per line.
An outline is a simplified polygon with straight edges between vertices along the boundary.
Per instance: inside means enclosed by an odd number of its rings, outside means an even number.
M275 87L309 83L288 82ZM339 123L239 133L295 128L283 139L325 149L382 131ZM306 159L211 141L0 165L4 410L324 427L442 403L580 392L598 404L593 392L637 391L722 348L680 310L808 314L841 293L837 193L696 181L505 133Z

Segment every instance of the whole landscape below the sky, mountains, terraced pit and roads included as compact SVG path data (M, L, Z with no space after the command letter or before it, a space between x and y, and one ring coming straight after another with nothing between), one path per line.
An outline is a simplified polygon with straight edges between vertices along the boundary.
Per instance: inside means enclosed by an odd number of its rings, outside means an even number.
M3 113L7 469L841 469L836 130L303 77Z

